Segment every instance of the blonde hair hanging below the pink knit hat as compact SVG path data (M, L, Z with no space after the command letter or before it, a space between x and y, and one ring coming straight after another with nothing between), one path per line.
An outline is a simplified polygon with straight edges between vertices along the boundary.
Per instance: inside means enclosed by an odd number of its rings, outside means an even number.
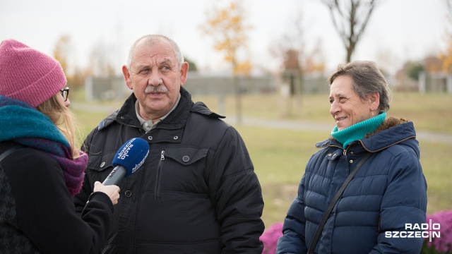
M61 131L64 137L69 141L69 145L72 150L72 157L73 159L76 159L80 157L80 152L78 152L77 149L77 147L80 147L78 143L80 130L78 130L76 126L80 125L78 124L76 116L70 109L64 106L61 99L57 96L61 97L59 92L50 97L50 99L47 99L47 101L42 102L42 104L37 106L36 109L49 117L49 119L55 123L59 131Z

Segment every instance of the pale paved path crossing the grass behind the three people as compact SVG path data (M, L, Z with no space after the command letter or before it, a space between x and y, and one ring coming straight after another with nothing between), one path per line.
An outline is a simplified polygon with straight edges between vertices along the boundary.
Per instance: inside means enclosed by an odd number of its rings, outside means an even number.
M116 111L117 107L112 106L102 106L102 105L89 105L89 104L78 104L71 102L71 108L81 111L95 111L103 112L105 116ZM232 126L237 125L237 119L234 116L227 116L225 121L230 123ZM242 124L244 126L266 126L268 128L283 128L290 130L304 130L304 131L325 131L330 133L333 125L328 125L325 123L315 123L309 121L290 121L284 119L278 120L268 120L268 119L256 119L251 117L244 117L242 119ZM452 134L446 133L434 133L430 131L416 131L418 140L429 140L437 143L448 143L452 144Z

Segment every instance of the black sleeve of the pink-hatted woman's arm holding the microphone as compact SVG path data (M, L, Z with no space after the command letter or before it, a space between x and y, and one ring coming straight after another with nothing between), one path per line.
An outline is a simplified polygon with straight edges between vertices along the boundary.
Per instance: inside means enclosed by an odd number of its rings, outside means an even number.
M93 193L79 217L59 164L31 148L16 154L6 168L20 231L42 253L98 253L112 225L108 196Z

